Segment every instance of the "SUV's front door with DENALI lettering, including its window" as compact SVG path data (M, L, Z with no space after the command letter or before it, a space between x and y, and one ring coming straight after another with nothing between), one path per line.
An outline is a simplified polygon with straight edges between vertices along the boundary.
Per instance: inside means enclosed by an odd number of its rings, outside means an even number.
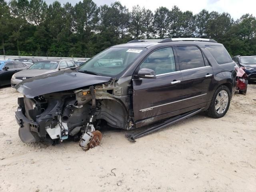
M135 121L159 116L182 108L182 74L172 47L149 54L139 68L156 72L156 79L133 78L133 110Z

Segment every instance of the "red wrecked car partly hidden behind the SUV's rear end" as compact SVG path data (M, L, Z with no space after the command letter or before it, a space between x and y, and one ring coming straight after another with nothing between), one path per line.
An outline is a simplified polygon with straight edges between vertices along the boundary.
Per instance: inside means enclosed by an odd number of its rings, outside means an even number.
M248 76L246 75L244 70L241 67L239 67L237 64L235 68L236 68L236 90L239 90L240 94L246 94Z

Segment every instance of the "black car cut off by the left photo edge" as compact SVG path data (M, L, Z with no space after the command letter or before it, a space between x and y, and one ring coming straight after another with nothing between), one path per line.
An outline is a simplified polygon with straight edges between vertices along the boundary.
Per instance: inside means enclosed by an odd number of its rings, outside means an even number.
M28 65L18 61L6 61L0 64L0 86L10 85L12 75L28 68Z

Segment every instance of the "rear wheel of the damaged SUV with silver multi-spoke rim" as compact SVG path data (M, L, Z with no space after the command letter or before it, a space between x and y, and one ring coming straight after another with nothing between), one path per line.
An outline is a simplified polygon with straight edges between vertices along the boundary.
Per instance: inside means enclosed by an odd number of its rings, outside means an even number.
M218 98L217 98L218 97ZM211 118L223 117L230 105L230 90L227 86L220 86L214 93L212 101L207 110L208 116ZM218 107L219 106L219 107Z

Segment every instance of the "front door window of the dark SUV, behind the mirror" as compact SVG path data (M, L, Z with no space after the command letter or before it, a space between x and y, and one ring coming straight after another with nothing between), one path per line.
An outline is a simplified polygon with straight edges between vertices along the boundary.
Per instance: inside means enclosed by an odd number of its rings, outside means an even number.
M176 71L172 47L152 52L140 65L140 69L142 68L152 69L157 75Z

